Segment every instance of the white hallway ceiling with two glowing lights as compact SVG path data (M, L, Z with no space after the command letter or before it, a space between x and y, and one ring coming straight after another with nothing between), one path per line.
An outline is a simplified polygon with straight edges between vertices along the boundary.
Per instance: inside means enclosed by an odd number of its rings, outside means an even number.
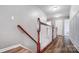
M38 7L47 15L48 21L51 19L69 18L69 5L40 5Z

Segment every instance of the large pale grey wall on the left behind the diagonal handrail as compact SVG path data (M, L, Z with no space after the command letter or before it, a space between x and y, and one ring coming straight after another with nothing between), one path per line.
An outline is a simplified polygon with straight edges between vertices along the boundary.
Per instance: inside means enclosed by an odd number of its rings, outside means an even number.
M17 29L17 24L37 40L38 17L46 21L46 15L36 6L0 6L0 49L21 43L36 52L36 44Z

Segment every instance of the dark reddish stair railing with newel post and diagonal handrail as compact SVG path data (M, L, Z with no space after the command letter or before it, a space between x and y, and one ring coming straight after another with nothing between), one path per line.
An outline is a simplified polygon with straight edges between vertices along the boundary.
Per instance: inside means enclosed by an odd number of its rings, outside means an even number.
M41 22L40 18L38 18L38 20L37 20L37 37L38 37L37 41L26 30L24 30L24 28L21 25L17 25L17 27L21 31L23 31L27 36L29 36L36 43L36 45L37 45L37 53L41 52L41 50L40 50L40 31L41 31L41 25L50 26L50 25L48 25L46 23Z

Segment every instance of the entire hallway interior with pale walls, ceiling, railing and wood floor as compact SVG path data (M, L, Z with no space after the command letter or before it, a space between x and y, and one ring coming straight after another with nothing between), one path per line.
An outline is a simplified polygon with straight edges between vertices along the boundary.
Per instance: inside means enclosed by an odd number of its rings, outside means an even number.
M73 5L1 5L0 52L78 52L77 8Z

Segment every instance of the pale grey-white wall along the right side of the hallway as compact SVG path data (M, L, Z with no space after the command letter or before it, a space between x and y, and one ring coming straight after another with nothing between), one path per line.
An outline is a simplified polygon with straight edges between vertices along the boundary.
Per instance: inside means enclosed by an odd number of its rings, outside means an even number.
M79 51L79 6L72 6L70 12L70 39Z

